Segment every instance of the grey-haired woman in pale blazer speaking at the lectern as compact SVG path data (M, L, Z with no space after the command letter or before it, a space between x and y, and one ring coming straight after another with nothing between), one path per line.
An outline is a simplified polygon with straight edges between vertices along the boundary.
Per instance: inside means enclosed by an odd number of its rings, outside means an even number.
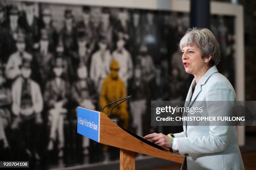
M236 92L232 85L216 68L220 61L220 50L210 30L206 28L187 30L180 40L179 47L182 50L182 62L186 72L195 77L189 87L186 101L236 100ZM192 106L193 104L190 105ZM183 126L181 133L169 135L152 133L144 138L151 139L155 144L171 148L184 156L182 169L244 169L236 143L235 126Z

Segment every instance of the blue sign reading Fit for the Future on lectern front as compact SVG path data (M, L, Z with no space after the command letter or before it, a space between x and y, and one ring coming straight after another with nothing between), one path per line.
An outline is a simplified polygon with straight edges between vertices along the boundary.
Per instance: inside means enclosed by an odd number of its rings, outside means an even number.
M77 107L77 133L100 142L100 112Z

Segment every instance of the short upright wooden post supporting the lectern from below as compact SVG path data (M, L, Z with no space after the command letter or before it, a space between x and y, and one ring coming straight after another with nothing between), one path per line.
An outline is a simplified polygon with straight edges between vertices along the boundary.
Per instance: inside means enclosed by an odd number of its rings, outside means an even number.
M120 149L120 170L135 170L135 152Z

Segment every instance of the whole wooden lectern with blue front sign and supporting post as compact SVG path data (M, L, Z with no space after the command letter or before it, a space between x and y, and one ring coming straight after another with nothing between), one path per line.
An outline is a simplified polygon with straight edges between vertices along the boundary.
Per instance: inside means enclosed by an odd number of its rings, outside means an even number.
M103 112L77 107L77 133L98 143L120 148L120 170L135 170L135 153L177 163L184 157L120 128Z

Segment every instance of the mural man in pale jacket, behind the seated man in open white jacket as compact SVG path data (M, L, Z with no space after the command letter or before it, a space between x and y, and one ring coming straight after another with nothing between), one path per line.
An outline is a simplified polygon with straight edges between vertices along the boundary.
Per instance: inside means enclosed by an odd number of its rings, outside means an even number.
M16 47L17 51L10 55L5 67L6 77L10 80L15 79L21 74L19 66L22 63L23 58L32 60L32 55L25 51L26 43L23 30L18 31Z

